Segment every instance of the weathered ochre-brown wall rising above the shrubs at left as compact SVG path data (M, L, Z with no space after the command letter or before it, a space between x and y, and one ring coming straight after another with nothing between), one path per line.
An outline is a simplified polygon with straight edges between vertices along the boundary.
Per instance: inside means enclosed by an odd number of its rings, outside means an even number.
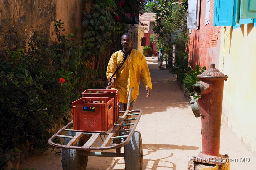
M33 29L51 45L56 41L55 21L61 19L65 34L71 33L81 27L86 5L83 0L0 0L0 56L8 48L23 48Z

